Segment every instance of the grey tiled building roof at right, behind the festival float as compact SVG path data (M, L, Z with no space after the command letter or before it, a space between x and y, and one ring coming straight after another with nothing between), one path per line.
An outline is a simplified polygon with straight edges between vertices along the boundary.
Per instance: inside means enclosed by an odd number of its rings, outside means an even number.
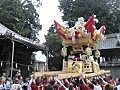
M105 39L100 41L96 49L120 48L120 33L105 35Z

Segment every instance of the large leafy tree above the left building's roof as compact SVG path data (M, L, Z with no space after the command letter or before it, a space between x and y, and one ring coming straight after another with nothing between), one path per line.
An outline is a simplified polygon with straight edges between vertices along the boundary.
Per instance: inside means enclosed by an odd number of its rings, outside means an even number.
M39 15L31 0L1 0L0 23L33 40L41 29Z

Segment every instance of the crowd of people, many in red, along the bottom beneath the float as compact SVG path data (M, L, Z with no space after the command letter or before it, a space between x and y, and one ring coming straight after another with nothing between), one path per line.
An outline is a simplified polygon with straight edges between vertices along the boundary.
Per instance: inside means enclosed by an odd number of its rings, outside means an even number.
M71 77L58 79L57 77L42 76L24 79L17 76L13 81L10 78L0 78L0 90L120 90L120 78L99 75L95 77Z

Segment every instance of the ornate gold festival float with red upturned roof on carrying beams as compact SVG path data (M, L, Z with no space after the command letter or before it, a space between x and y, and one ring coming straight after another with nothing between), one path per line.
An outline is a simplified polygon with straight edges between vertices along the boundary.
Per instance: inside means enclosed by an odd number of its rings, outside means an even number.
M96 16L90 16L87 21L83 17L78 18L72 28L60 25L57 21L55 29L62 39L63 48L61 55L64 57L63 70L56 72L36 73L35 76L57 76L57 78L77 77L83 74L87 77L109 74L109 71L100 70L98 60L100 51L96 45L103 40L105 26L96 28Z

